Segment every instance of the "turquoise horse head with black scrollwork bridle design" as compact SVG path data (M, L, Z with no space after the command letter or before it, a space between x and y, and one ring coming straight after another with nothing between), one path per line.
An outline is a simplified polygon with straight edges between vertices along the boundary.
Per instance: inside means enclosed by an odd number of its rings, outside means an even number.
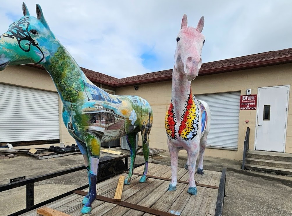
M25 3L22 4L22 10L24 16L13 22L8 31L0 36L0 70L7 65L45 63L51 52L60 45L38 4L37 17L29 15Z

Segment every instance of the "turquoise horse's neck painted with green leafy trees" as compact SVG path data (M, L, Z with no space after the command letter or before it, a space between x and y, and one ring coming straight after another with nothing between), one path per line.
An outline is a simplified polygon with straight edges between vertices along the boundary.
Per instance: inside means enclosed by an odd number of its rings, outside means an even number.
M62 45L50 55L43 66L51 75L66 109L72 103L84 101L86 83L92 83Z

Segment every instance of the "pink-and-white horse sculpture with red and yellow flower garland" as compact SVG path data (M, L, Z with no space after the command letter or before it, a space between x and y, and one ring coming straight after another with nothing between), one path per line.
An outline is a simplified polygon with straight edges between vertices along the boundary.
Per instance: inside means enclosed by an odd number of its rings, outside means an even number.
M197 173L204 173L203 157L210 130L210 109L206 102L194 97L191 88L191 81L198 76L202 64L201 52L205 43L205 37L201 33L203 27L204 17L199 20L197 28L194 28L187 27L187 16L183 16L176 38L171 104L165 117L172 176L168 190L176 190L178 152L185 149L188 155L185 168L189 170L187 192L192 195L197 194L194 174L199 154Z

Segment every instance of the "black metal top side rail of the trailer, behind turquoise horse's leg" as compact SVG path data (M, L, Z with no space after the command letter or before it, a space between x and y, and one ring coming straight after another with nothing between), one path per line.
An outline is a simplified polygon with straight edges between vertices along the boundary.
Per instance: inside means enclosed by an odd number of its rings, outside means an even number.
M109 161L113 162L113 161L120 160L120 159L123 159L123 158L128 158L128 157L130 157L130 155L123 155L121 157L115 157L115 158L112 158L112 159L109 159L109 160L101 161L99 164L105 164L105 163L108 163ZM46 174L46 175L43 175L43 176L36 176L36 177L28 178L28 179L25 179L25 180L20 180L20 181L14 182L14 183L1 185L0 186L0 192L6 191L6 190L10 190L10 189L13 189L13 188L16 188L16 187L21 187L21 186L27 185L29 183L35 183L35 182L47 180L47 179L50 179L50 178L54 178L54 177L57 177L57 176L62 176L62 175L69 174L69 173L76 172L76 171L83 170L83 169L85 169L85 164L82 165L82 166L79 166L79 167L65 169L65 170L61 170L61 171L58 171L58 172L49 173L49 174Z

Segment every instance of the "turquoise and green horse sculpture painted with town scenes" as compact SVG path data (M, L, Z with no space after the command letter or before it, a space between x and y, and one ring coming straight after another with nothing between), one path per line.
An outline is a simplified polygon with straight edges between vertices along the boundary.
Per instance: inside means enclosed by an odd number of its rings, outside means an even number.
M83 199L81 213L89 213L96 197L101 142L126 135L131 165L124 183L130 184L137 153L135 137L140 131L145 158L140 182L146 181L152 108L143 98L111 95L95 86L55 38L41 7L36 5L37 17L29 15L24 3L22 10L24 16L13 22L8 31L0 36L0 70L7 65L36 63L51 75L63 102L63 121L85 160L89 192Z

